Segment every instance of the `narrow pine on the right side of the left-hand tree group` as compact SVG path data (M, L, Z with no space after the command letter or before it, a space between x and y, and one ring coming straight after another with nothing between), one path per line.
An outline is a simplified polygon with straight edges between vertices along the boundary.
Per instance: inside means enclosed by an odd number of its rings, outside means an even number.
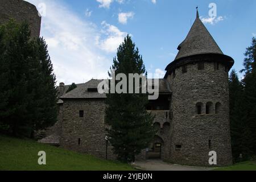
M31 85L35 88L34 104L37 107L34 130L39 130L52 126L57 119L56 76L53 73L53 65L48 54L46 41L43 38L35 39L32 42L32 47L34 61L39 63L38 78Z

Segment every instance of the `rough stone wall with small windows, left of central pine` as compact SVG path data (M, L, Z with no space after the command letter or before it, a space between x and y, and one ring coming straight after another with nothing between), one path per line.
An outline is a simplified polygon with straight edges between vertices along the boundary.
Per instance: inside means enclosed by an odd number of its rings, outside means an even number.
M84 117L79 111L84 110ZM102 99L64 100L60 146L106 158L105 103ZM80 139L80 144L79 144ZM108 144L108 159L115 159Z

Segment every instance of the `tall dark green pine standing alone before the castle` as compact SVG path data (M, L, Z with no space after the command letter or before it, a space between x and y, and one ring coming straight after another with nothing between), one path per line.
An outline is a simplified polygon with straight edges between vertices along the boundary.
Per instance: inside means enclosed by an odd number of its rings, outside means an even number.
M129 73L146 73L142 56L129 35L119 46L112 69L116 75L124 73L127 78ZM110 126L108 137L114 153L123 162L134 160L155 135L154 117L147 112L147 103L147 94L107 94L105 121Z

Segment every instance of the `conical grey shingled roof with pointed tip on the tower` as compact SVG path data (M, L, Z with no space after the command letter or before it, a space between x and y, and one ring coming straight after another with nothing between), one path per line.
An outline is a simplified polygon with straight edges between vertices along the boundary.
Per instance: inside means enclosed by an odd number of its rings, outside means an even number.
M201 22L198 11L196 13L196 20L193 23L191 30L177 49L179 50L179 53L177 53L175 60L182 57L205 53L216 53L223 55L220 47L218 47L212 35L210 35L203 22Z

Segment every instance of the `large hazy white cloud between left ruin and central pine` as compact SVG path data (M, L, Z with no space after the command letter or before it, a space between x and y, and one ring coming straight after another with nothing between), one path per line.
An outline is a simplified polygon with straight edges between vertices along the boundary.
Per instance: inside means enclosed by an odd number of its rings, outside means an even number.
M42 0L28 0L39 5ZM81 83L91 78L108 77L112 56L98 48L103 33L92 22L68 10L62 1L44 0L47 14L42 18L41 36L46 39L57 82ZM120 38L124 34L117 27L108 25L109 36ZM104 34L105 35L105 34ZM108 45L109 40L106 41Z

